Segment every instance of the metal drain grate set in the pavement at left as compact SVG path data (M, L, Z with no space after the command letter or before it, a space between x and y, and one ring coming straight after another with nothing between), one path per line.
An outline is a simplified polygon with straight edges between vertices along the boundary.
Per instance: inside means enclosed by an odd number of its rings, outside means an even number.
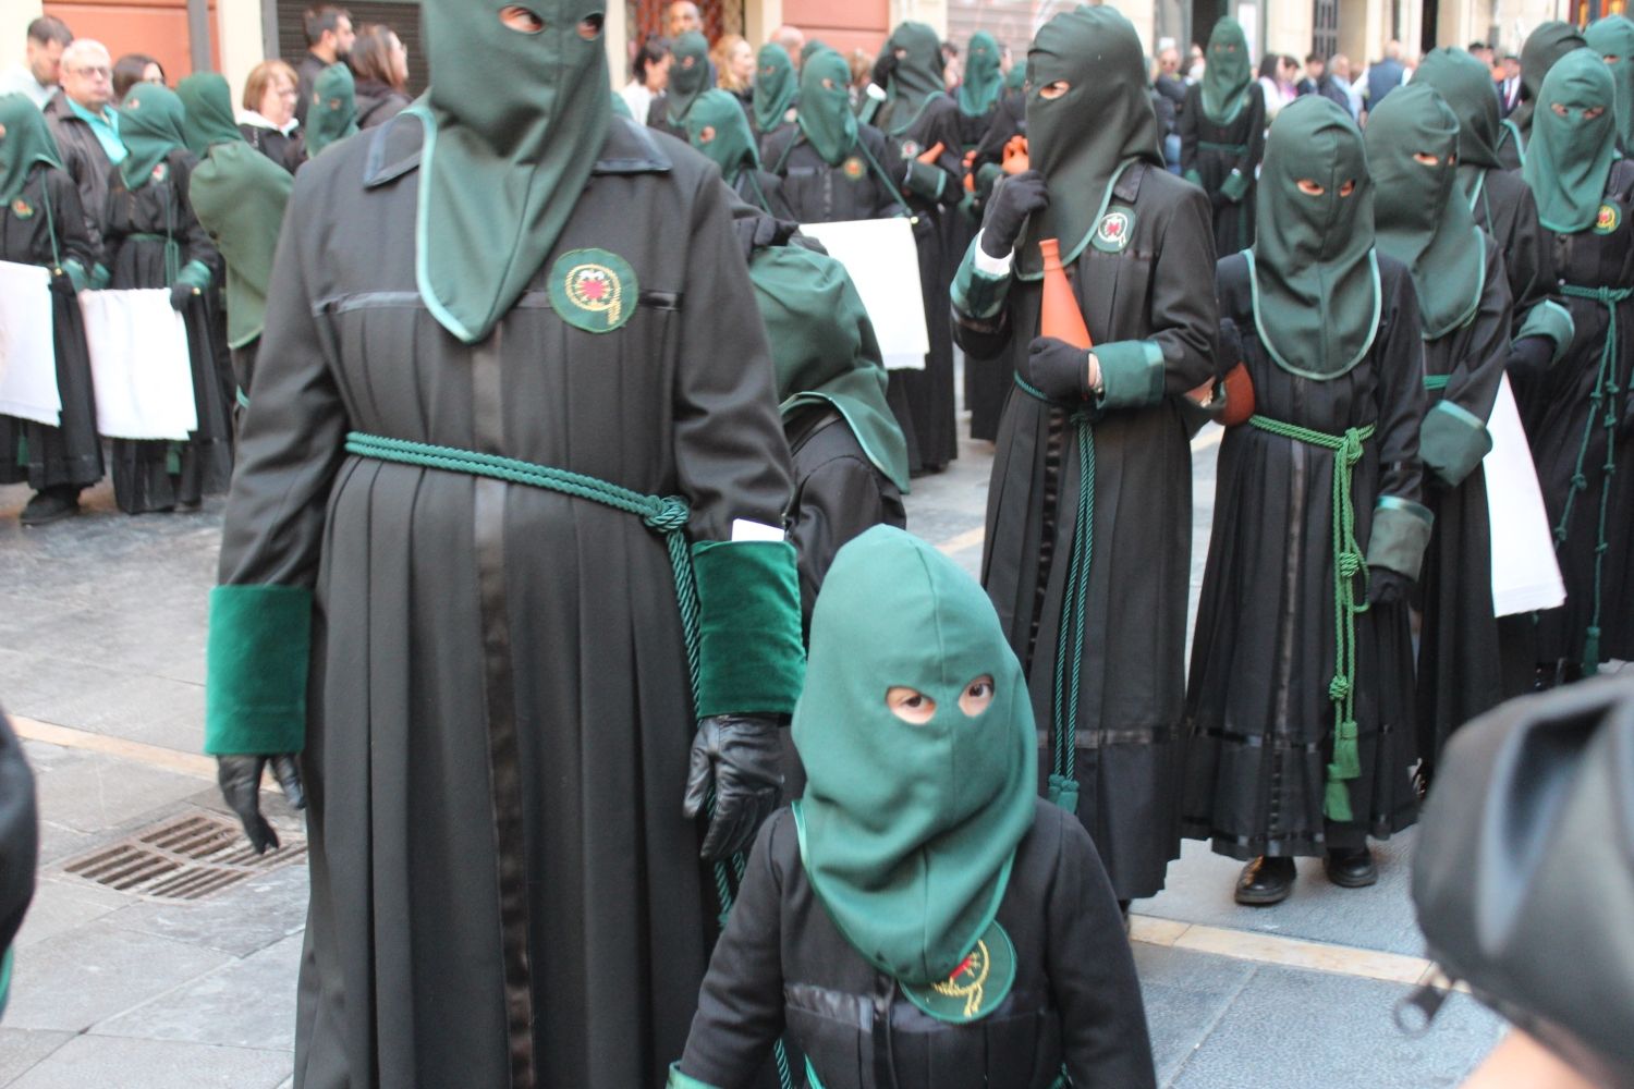
M278 829L283 847L257 857L239 823L216 813L185 813L64 867L85 880L139 896L199 900L239 882L306 859L306 836Z

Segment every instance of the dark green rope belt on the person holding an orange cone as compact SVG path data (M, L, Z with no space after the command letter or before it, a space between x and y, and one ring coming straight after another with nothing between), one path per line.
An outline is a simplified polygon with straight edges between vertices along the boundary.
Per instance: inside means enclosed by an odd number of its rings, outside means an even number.
M1088 614L1090 560L1095 555L1095 424L1085 405L1062 405L1020 374L1016 387L1046 405L1065 410L1078 441L1078 521L1067 552L1067 585L1062 591L1060 622L1056 630L1056 676L1051 691L1051 738L1054 753L1049 800L1078 811L1078 682L1083 669L1083 627ZM1070 665L1069 665L1070 663Z

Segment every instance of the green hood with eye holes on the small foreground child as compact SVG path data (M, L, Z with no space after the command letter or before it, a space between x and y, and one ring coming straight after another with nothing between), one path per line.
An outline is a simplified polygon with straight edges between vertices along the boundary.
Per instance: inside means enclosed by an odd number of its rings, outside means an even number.
M992 704L971 718L959 696L982 676ZM931 720L897 718L894 686L933 699ZM946 980L998 914L1038 792L1026 678L982 588L889 526L840 549L812 611L794 745L801 860L828 918L902 983Z

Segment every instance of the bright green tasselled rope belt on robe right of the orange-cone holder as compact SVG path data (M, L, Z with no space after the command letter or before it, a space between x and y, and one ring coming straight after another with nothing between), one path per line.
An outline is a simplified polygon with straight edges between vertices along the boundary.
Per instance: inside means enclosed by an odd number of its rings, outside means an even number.
M1356 542L1351 478L1361 460L1363 444L1373 438L1374 424L1348 428L1345 434L1327 434L1258 413L1248 416L1248 423L1294 442L1333 451L1333 679L1328 682L1328 699L1333 702L1333 762L1327 766L1322 815L1330 821L1348 823L1355 815L1346 784L1361 777L1361 753L1356 746L1356 614L1368 611L1368 558Z

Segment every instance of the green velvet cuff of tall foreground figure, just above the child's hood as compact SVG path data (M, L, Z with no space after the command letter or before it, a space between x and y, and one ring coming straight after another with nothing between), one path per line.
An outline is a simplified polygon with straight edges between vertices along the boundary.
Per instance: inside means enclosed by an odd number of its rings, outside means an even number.
M693 545L698 580L698 717L786 715L806 681L801 591L786 540Z

